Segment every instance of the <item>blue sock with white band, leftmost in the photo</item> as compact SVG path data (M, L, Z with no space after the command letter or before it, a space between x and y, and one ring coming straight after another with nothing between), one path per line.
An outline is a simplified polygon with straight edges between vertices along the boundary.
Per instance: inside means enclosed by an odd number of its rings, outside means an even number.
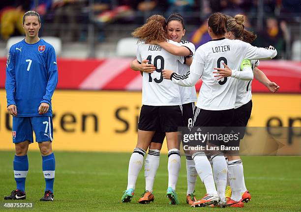
M28 158L26 156L16 156L14 159L14 175L17 189L25 192L25 181L28 173Z

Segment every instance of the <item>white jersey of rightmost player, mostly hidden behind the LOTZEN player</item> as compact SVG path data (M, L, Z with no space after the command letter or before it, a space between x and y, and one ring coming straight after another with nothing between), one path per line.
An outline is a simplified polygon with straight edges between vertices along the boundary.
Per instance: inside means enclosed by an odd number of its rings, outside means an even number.
M251 60L251 65L254 73L255 67L259 66L259 60ZM252 99L251 85L252 80L246 81L238 79L235 108L238 108L250 102L250 100Z

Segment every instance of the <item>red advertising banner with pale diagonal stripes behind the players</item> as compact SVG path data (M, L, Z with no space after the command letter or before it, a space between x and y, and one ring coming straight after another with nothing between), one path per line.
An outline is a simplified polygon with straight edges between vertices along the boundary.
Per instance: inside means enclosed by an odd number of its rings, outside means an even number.
M140 72L129 68L133 58L58 59L58 89L141 90ZM0 88L5 85L6 58L0 58ZM260 61L258 67L271 81L280 86L279 93L301 93L301 62L289 60ZM196 84L199 91L202 84ZM253 92L269 92L256 79Z

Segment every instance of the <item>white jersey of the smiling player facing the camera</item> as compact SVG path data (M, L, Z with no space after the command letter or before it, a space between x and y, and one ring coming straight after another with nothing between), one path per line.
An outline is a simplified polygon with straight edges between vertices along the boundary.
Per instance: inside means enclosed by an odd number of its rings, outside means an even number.
M195 46L193 43L181 40L180 44L181 44L181 46L187 47L190 50L190 52L192 52L192 54L194 55ZM179 74L185 75L185 74L187 74L188 71L189 71L189 66L184 65L179 62ZM182 105L197 101L195 86L192 86L192 87L179 86L179 87L180 87Z

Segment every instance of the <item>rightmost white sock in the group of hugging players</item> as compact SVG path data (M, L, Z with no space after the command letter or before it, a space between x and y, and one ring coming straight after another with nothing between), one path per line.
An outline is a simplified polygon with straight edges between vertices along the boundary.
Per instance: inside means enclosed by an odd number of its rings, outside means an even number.
M241 200L241 182L243 176L243 167L241 160L231 160L228 163L229 181L232 190L231 199L234 201Z

